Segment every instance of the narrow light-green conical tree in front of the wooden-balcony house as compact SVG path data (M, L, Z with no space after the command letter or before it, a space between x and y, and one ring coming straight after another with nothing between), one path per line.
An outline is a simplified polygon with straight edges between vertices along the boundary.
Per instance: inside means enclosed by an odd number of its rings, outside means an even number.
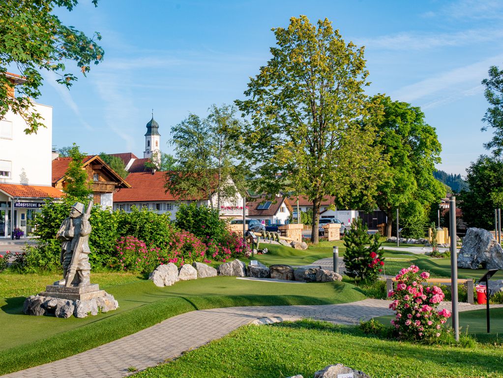
M74 197L82 202L86 201L93 190L90 188L88 174L82 169L82 162L85 154L78 149L78 145L73 143L68 151L71 162L68 164L68 170L65 173L64 181L66 186L63 191L68 197Z

